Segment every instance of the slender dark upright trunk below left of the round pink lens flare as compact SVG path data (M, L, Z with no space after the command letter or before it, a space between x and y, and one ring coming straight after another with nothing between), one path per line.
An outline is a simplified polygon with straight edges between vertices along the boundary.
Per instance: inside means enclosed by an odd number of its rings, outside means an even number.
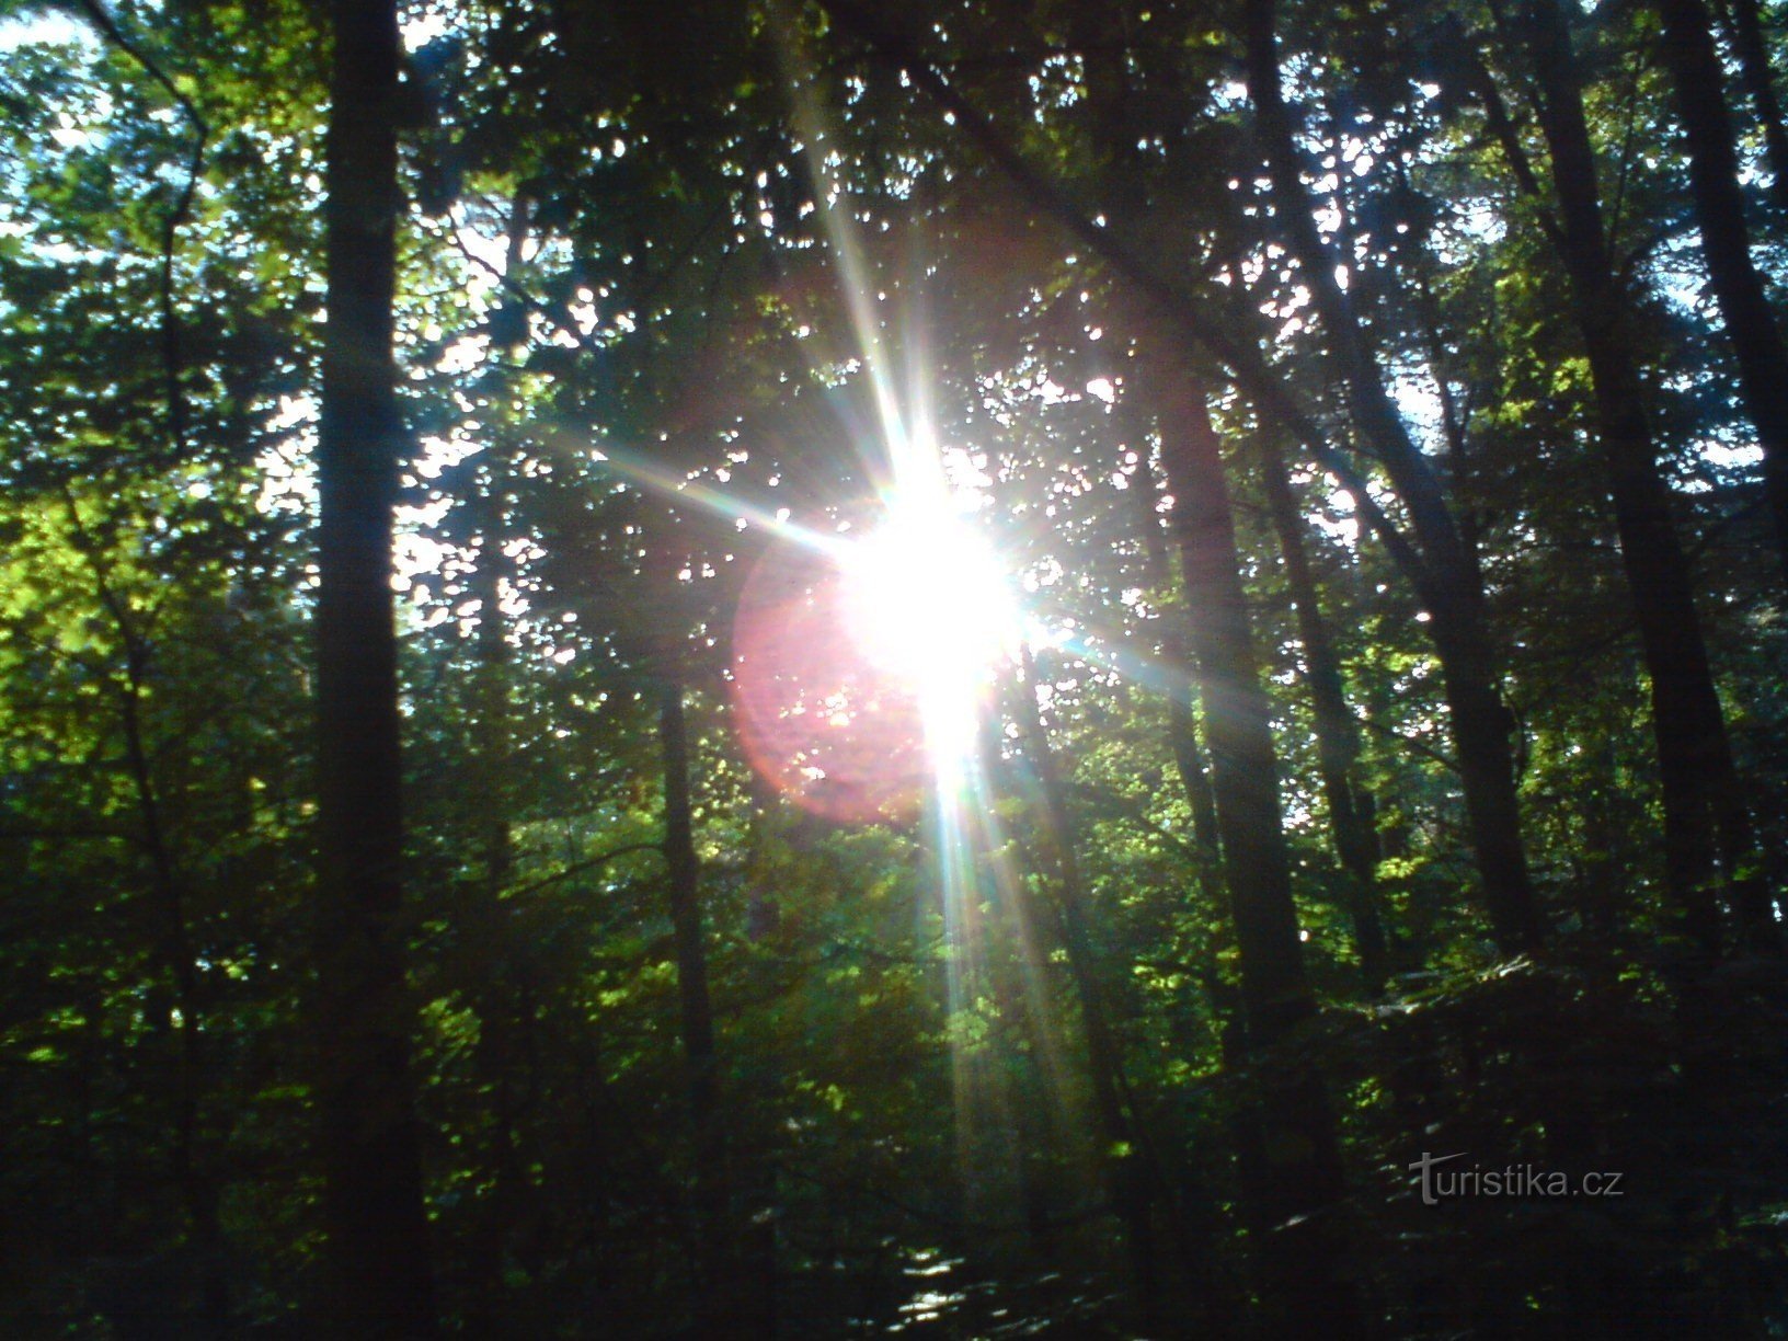
M701 864L688 794L688 722L683 687L660 690L658 742L663 751L665 865L669 869L670 932L676 940L676 987L681 1008L683 1062L688 1110L696 1132L696 1234L703 1336L735 1336L730 1327L733 1253L728 1230L726 1139L721 1130L721 1078L713 1050L713 1003L708 999L708 951L701 928Z

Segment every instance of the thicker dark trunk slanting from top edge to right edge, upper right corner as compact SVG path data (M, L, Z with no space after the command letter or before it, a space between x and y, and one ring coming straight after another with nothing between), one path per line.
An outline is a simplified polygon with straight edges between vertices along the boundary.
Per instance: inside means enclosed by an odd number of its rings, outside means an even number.
M1788 349L1783 347L1763 275L1750 263L1738 145L1722 91L1713 16L1702 0L1657 0L1657 11L1665 20L1665 64L1670 66L1683 139L1688 143L1700 252L1725 336L1738 358L1738 392L1763 449L1763 495L1775 524L1775 558L1788 578ZM1783 181L1779 170L1775 179Z

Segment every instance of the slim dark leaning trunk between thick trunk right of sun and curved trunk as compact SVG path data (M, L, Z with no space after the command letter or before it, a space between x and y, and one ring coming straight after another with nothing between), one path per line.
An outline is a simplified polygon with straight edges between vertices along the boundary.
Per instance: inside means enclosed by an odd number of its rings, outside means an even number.
M1266 510L1286 560L1286 583L1291 586L1291 604L1298 619L1298 640L1303 644L1303 683L1311 692L1316 721L1316 771L1323 781L1328 831L1346 881L1354 946L1359 951L1366 992L1379 996L1389 974L1389 951L1384 923L1379 917L1379 853L1366 826L1368 810L1359 799L1362 789L1354 780L1354 765L1359 762L1359 722L1346 704L1341 660L1318 603L1316 578L1303 551L1303 517L1291 492L1286 460L1269 440L1261 442L1261 481L1266 490Z

